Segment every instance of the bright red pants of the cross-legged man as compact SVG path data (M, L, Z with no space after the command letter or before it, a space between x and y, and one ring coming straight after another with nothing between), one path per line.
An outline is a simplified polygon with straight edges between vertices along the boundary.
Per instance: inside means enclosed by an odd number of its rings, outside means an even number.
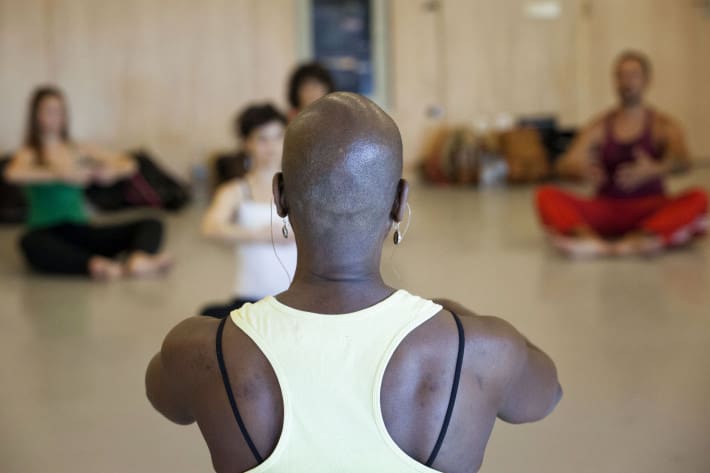
M691 189L675 197L584 199L555 187L536 194L542 223L552 232L569 235L591 229L605 238L634 231L658 235L667 246L682 245L707 230L708 197Z

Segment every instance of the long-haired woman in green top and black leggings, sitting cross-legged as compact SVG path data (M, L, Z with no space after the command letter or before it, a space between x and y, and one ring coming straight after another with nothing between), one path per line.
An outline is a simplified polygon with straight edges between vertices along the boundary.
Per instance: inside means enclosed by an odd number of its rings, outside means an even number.
M28 264L44 273L106 280L167 270L171 258L159 252L161 222L89 224L84 187L110 185L135 171L129 156L71 140L61 91L35 91L25 146L6 170L8 180L24 186L29 204L28 230L20 241Z

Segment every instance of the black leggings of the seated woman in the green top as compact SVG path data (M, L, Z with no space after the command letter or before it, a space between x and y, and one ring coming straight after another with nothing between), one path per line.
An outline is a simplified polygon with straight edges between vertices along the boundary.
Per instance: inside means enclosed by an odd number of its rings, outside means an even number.
M134 251L155 254L162 239L163 224L154 219L96 227L65 223L28 231L20 239L20 248L36 271L88 274L92 256L114 258Z

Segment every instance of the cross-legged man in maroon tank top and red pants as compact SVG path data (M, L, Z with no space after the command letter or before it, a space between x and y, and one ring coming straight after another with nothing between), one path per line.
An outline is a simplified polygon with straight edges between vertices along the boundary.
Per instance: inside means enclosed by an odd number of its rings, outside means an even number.
M664 178L689 164L680 125L645 101L648 58L622 53L614 65L619 104L587 126L558 162L562 176L588 179L596 196L554 187L537 193L552 244L570 256L656 253L688 243L707 229L707 195L669 196Z

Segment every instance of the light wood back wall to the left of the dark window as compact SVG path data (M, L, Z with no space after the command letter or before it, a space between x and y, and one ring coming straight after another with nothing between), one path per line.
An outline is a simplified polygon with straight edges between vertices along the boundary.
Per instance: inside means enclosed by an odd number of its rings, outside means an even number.
M233 144L240 107L285 102L293 16L291 0L0 0L0 149L51 82L78 138L146 146L186 174Z

